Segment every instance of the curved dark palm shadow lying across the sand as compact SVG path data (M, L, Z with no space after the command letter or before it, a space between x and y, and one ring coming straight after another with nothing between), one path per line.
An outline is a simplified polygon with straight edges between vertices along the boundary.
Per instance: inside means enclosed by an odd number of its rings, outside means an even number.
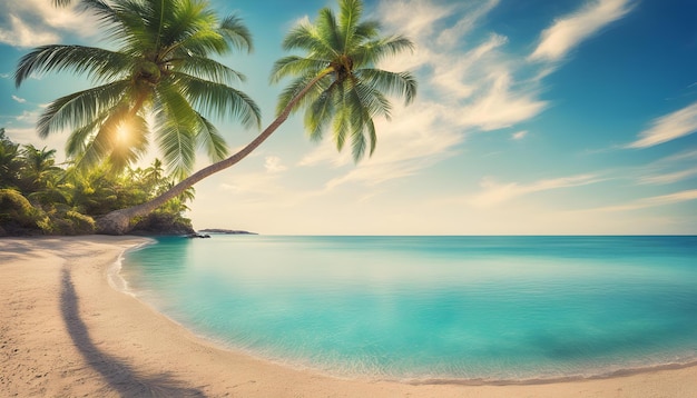
M80 318L79 300L70 271L62 269L60 309L68 334L87 364L122 397L205 397L203 391L189 388L170 375L139 375L132 366L99 350Z

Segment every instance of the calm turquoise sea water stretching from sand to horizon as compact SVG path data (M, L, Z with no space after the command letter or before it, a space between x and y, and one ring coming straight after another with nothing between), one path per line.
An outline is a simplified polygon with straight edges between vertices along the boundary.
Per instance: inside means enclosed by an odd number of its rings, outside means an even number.
M697 360L697 237L164 238L128 290L226 347L346 377L529 380Z

